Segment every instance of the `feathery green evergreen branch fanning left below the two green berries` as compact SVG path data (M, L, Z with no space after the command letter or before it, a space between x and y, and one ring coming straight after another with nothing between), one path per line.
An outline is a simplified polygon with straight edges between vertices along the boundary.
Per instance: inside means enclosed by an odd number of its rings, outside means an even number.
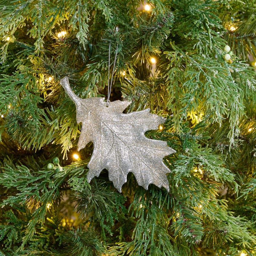
M32 200L32 215L28 221L28 227L26 228L26 234L22 239L22 248L29 239L32 239L36 232L36 224L44 223L45 214L47 212L47 204L53 202L60 196L60 188L63 182L70 175L70 182L72 189L81 189L86 184L78 182L77 176L81 175L83 168L77 169L72 167L68 172L59 170L55 173L55 170L42 170L32 172L25 166L17 166L13 168L10 165L6 165L4 172L1 173L1 185L5 188L17 188L19 194L16 197L8 196L1 203L2 206L5 205L15 205L15 204L28 204ZM75 172L74 172L75 171ZM78 172L77 172L78 171ZM53 182L51 180L53 177Z

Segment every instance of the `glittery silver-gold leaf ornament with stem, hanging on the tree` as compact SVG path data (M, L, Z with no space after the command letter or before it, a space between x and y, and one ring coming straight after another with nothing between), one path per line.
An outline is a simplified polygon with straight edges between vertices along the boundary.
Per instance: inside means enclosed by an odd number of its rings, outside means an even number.
M150 114L149 109L124 114L131 102L116 100L107 103L105 98L81 99L71 90L68 77L60 80L68 96L76 104L76 121L82 122L78 141L78 151L90 141L94 148L87 180L99 176L103 169L108 170L109 180L121 192L132 172L140 186L148 189L153 183L169 191L166 173L170 172L163 157L176 151L165 141L145 137L144 132L158 129L165 118Z

